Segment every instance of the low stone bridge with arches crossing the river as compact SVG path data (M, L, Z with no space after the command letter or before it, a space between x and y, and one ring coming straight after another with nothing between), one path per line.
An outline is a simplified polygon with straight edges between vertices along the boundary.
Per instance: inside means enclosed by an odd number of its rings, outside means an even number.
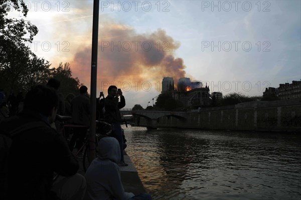
M162 116L172 116L180 120L186 121L189 118L188 112L176 112L176 111L156 111L156 110L131 110L120 109L120 114L123 115L136 115L146 118L147 128L157 128L157 123Z

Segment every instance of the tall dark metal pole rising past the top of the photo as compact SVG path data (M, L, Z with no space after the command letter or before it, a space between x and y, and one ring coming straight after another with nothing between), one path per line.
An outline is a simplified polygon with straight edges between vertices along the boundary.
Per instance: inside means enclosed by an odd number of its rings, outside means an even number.
M92 28L92 58L91 58L91 121L89 135L89 163L95 158L95 133L96 133L96 83L97 83L97 52L98 52L98 17L99 0L93 0L93 28Z

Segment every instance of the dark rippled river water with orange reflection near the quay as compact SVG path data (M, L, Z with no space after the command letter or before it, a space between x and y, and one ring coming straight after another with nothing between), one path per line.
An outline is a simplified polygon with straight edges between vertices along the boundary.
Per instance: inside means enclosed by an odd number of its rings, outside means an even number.
M154 199L301 199L301 135L123 128Z

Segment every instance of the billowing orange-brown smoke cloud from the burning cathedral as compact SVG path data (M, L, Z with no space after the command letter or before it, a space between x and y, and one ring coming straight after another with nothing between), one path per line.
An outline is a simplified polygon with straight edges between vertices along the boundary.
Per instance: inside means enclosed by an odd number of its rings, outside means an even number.
M114 47L112 47L112 44ZM142 45L144 44L144 45ZM112 21L102 22L98 39L98 87L102 81L162 81L174 77L175 84L186 75L182 58L175 57L180 43L165 30L137 33ZM91 45L82 47L71 61L74 76L90 83Z

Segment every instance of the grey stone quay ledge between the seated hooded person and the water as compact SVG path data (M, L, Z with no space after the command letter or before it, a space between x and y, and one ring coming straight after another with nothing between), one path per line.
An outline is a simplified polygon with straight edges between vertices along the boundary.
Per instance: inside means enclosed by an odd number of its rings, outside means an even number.
M83 158L77 158L77 160L80 166L78 173L85 175L82 164ZM126 152L124 153L124 162L128 164L128 166L120 166L120 176L124 191L132 192L135 195L144 193L145 188L140 180L137 169Z

